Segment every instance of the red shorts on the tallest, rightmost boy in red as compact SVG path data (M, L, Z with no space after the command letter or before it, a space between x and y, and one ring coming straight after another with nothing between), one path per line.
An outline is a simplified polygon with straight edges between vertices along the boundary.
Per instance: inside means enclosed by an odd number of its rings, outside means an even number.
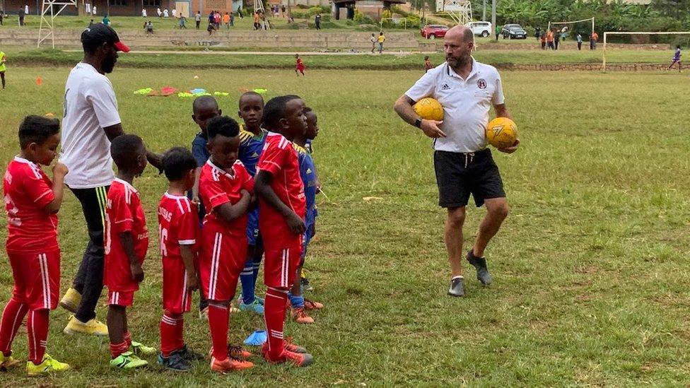
M273 288L291 288L302 257L302 247L266 248L264 255L264 284Z

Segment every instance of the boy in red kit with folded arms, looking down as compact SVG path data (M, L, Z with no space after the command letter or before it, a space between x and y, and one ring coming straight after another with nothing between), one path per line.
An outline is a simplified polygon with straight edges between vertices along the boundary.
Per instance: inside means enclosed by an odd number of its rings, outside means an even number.
M206 208L199 273L209 300L211 370L226 373L254 366L242 360L251 353L228 346L228 308L247 259L247 211L254 180L238 160L240 125L235 120L214 117L206 125L206 134L211 157L199 176L199 197Z

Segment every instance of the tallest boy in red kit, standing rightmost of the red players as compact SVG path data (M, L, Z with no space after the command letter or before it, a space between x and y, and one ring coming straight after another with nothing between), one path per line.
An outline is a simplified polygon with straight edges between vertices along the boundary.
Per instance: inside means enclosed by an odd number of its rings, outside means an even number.
M292 140L307 130L304 101L296 95L272 98L264 107L264 127L269 131L259 158L256 191L259 196L259 230L264 237L264 317L268 341L262 355L269 363L310 365L304 348L283 339L288 289L295 281L305 231L305 194L298 155Z

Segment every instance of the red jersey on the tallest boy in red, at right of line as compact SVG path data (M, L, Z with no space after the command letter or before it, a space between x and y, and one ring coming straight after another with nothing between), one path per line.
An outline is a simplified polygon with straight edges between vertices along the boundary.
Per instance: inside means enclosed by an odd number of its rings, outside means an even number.
M292 142L281 134L269 132L257 164L257 173L259 170L273 175L271 189L283 204L304 219L307 207L304 184L300 177L297 151ZM300 245L300 235L291 233L281 213L264 201L259 201L259 230L267 249Z

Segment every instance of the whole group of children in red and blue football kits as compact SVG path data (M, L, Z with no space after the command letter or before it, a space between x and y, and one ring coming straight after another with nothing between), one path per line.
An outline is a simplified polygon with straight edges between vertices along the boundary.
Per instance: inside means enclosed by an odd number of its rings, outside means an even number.
M146 167L146 146L139 136L122 135L110 146L117 175L105 207L105 269L110 366L148 365L158 354L165 368L186 371L205 358L185 343L184 313L192 292L201 290L201 316L211 333L211 369L226 373L252 368L252 353L228 344L231 302L238 280L242 311L264 314L267 341L261 348L269 363L306 366L312 355L283 336L286 309L298 323L314 319L307 310L323 307L303 297L302 268L315 235L315 198L320 183L311 155L318 134L317 115L296 95L273 98L244 93L239 101L243 124L223 116L211 96L194 100L192 119L199 134L192 151L170 148L163 155L168 189L158 204L158 237L163 261L163 316L160 352L132 341L127 310L144 280L148 229L144 204L134 178ZM8 213L6 250L14 289L0 322L0 367L18 363L11 344L28 314L30 375L69 369L45 353L48 312L57 307L60 251L57 212L67 168L57 163L51 181L40 165L50 165L59 144L59 122L26 117L19 129L21 153L4 177ZM41 237L37 237L41 236ZM264 257L265 300L255 295Z

